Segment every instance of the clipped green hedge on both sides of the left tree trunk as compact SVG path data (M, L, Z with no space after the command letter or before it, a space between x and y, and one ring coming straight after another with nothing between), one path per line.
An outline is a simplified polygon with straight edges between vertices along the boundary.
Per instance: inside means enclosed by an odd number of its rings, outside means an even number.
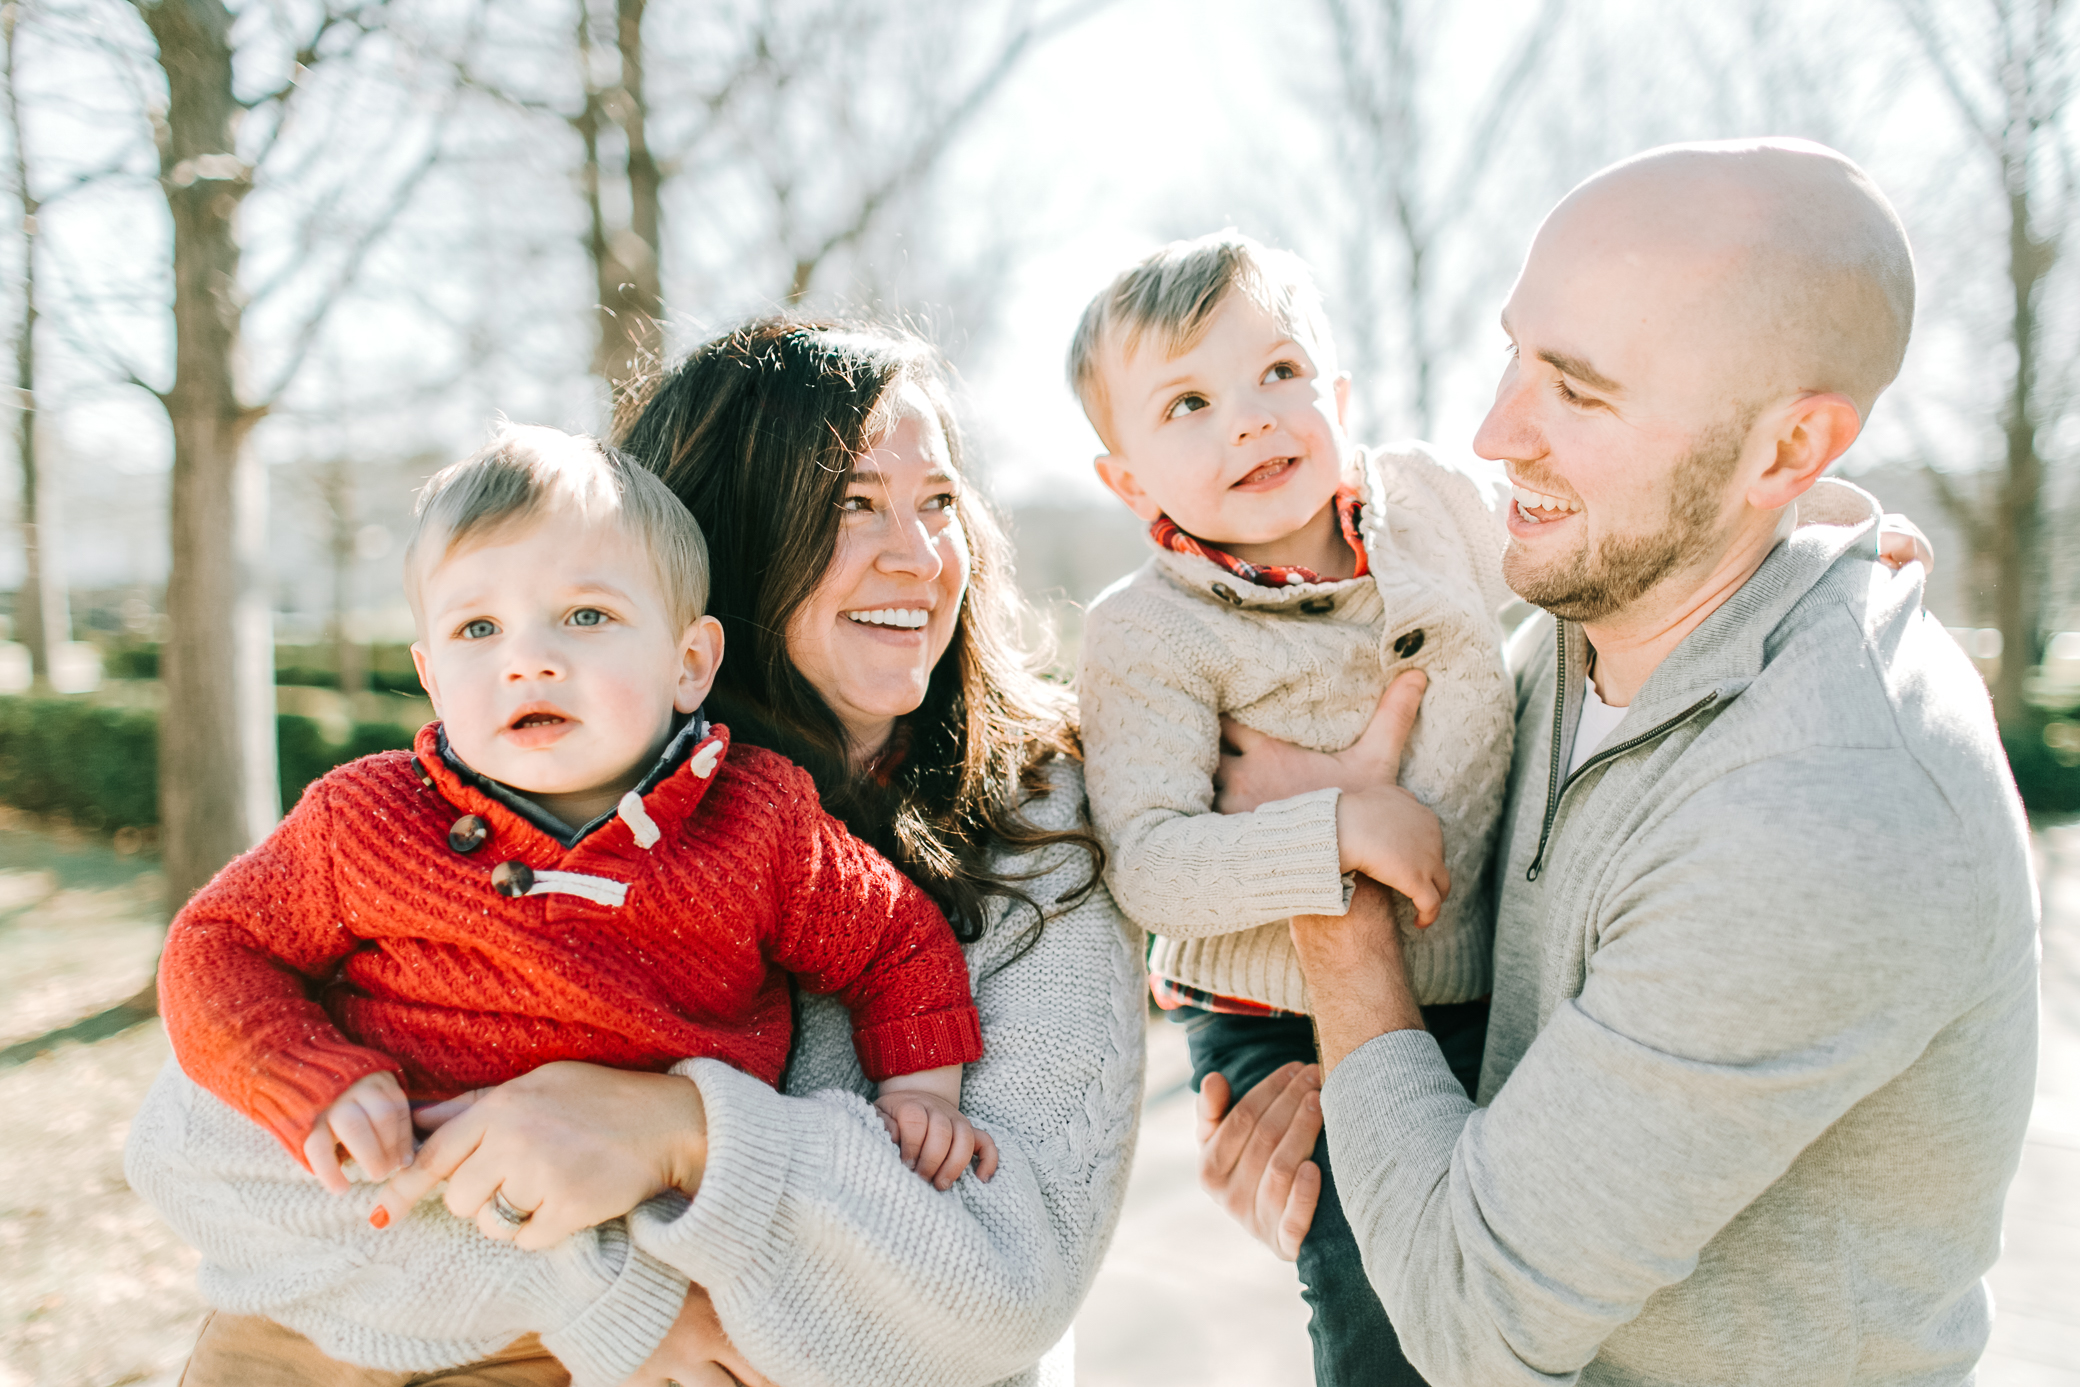
M329 742L310 717L275 719L281 803L358 757L410 747L412 730L358 722ZM114 832L158 823L158 715L79 699L0 697L0 803Z

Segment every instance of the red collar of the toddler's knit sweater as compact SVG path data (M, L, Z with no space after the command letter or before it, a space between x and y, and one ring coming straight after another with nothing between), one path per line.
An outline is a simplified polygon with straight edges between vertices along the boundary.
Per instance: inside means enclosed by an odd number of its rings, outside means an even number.
M716 744L713 753L705 751L709 742ZM716 763L728 753L728 728L709 724L699 711L688 715L632 790L643 813L630 815L624 809L624 796L622 805L578 828L570 828L520 790L466 765L447 744L447 732L439 722L428 722L418 730L412 751L420 776L458 809L483 815L493 823L495 832L520 830L526 834L526 830L532 830L557 848L570 850L616 823L634 840L634 846L649 846L641 840L645 836L643 830L630 819L641 817L649 826L649 832L655 834L659 828L670 828L691 817L713 782Z

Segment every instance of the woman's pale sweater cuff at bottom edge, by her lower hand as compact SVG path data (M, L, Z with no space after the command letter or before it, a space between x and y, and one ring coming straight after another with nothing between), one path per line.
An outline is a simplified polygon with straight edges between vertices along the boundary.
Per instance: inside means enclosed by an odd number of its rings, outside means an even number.
M659 1196L643 1208L651 1204L678 1208L680 1202ZM551 1302L582 1306L541 1335L541 1345L570 1370L572 1387L628 1381L657 1352L686 1304L686 1275L636 1248L624 1223L605 1223L597 1235L591 1248L584 1239L566 1239L562 1248L572 1254L549 1260L545 1291Z

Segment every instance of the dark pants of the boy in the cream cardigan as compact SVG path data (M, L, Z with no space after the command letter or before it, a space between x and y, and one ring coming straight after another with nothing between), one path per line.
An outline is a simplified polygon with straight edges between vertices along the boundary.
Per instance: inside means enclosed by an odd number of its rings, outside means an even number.
M1192 1088L1208 1073L1227 1077L1242 1098L1288 1061L1312 1065L1315 1023L1306 1017L1227 1017L1211 1011L1171 1013L1190 1029ZM1425 1006L1423 1025L1437 1038L1444 1058L1471 1098L1481 1081L1481 1048L1487 1044L1487 1000ZM1329 1171L1329 1135L1315 1142L1321 1167L1321 1204L1300 1244L1300 1293L1312 1312L1308 1337L1315 1341L1315 1387L1423 1387L1423 1377L1402 1356L1402 1341L1379 1306L1358 1239L1335 1198Z

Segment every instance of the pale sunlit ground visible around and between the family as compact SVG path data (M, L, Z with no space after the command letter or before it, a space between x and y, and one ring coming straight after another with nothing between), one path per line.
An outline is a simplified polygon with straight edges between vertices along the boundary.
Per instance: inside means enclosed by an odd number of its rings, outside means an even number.
M1982 1387L2080 1387L2080 826L2038 848L2045 1050ZM150 977L158 888L141 859L0 817L0 1048ZM1177 1027L1156 1023L1150 1046L1148 1119L1119 1239L1077 1318L1077 1377L1304 1387L1294 1273L1198 1192ZM179 1379L202 1318L196 1258L123 1183L129 1119L164 1056L154 1023L0 1069L0 1387Z

